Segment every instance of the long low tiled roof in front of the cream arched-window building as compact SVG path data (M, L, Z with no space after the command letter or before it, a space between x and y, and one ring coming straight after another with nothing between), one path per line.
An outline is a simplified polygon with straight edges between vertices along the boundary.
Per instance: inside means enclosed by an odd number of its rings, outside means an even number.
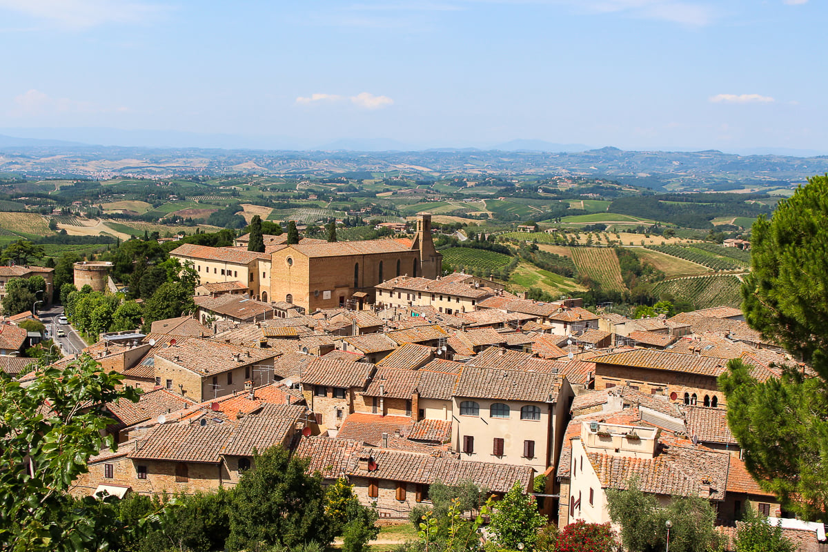
M507 492L515 482L528 489L533 469L501 463L472 462L460 458L443 458L431 454L398 450L371 449L351 439L302 439L296 455L310 458L309 472L320 472L325 478L339 478L343 474L388 481L431 484L436 481L454 486L472 481L491 492ZM359 468L359 458L373 457L376 469L368 472Z

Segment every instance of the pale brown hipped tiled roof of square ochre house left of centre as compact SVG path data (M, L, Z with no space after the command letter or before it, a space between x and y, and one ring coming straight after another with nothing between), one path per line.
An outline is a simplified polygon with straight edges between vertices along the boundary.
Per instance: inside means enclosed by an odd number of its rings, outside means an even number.
M226 372L277 356L276 352L267 349L239 347L198 338L179 338L175 345L156 350L155 354L201 376Z

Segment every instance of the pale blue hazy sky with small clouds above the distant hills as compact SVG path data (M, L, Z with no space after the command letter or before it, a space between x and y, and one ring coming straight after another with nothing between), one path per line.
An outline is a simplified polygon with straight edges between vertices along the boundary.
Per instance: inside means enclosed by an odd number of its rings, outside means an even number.
M821 0L0 0L0 133L828 153L826 21Z

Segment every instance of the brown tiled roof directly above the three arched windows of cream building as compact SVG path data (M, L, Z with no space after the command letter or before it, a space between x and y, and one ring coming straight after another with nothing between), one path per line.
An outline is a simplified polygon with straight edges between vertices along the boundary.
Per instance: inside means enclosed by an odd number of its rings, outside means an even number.
M554 374L463 367L455 396L501 401L555 401L559 386Z

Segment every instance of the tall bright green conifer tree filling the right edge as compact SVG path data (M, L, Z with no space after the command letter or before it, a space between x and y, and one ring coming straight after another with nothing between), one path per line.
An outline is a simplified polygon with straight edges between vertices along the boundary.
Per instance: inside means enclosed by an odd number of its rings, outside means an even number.
M828 521L828 175L816 176L773 218L753 225L752 270L742 286L745 319L768 341L809 363L757 382L741 362L720 376L728 421L745 467L787 510ZM768 423L777 422L770 426Z

